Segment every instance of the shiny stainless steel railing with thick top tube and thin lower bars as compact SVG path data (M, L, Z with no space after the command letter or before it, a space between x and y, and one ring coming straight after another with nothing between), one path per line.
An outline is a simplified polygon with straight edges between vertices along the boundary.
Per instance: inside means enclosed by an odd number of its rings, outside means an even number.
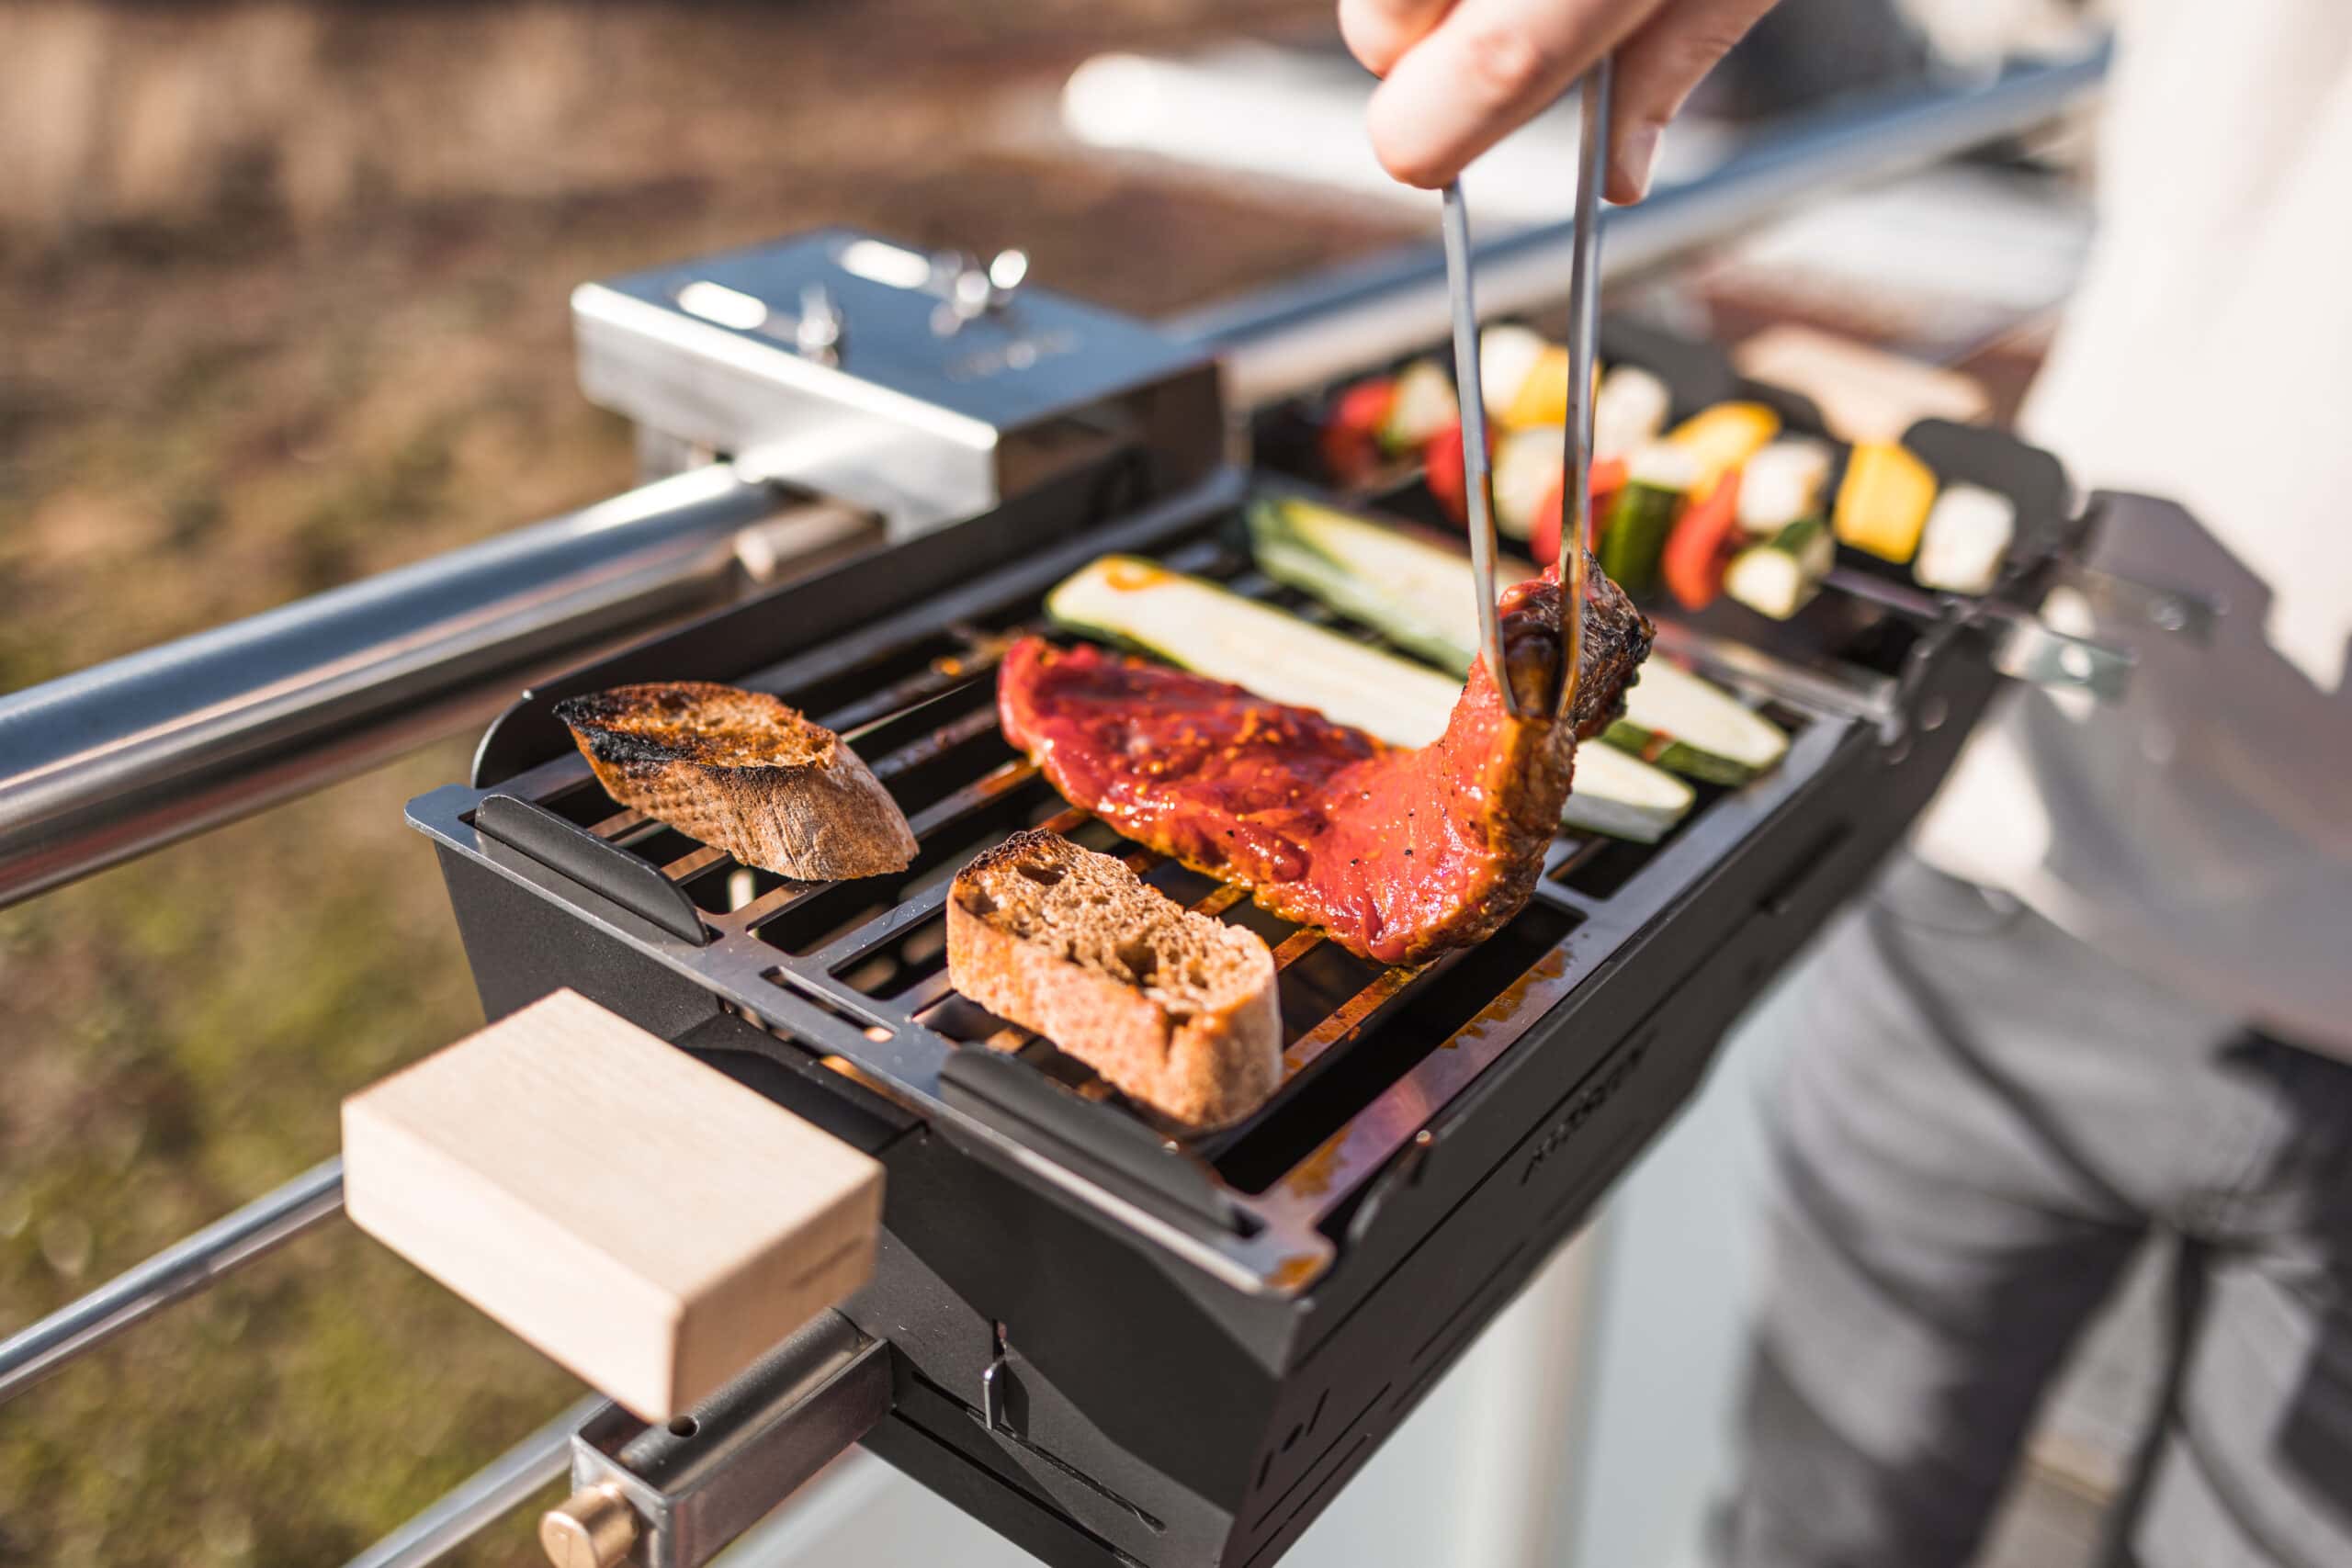
M1788 127L1689 186L1609 214L1609 275L1790 202L2032 129L2096 92L2107 52ZM1566 287L1564 226L1479 247L1491 315ZM1444 336L1444 263L1411 247L1169 324L1256 407ZM727 465L0 698L0 905L318 788L487 712L534 668L715 604L762 562L858 520ZM327 1161L0 1342L0 1403L160 1307L341 1211ZM355 1559L421 1568L564 1469L583 1401Z

